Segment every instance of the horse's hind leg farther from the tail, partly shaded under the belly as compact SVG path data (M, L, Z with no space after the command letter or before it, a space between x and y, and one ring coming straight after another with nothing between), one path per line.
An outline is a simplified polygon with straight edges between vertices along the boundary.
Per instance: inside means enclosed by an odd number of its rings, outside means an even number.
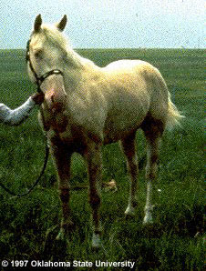
M127 166L130 175L129 205L125 211L126 215L134 216L136 206L137 180L139 175L138 158L135 147L135 133L121 140L122 150L127 158Z

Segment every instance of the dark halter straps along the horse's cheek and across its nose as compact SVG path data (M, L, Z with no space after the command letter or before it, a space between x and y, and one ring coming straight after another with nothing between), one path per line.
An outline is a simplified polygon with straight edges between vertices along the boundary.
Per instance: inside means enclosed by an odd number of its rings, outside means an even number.
M27 44L26 44L26 62L28 62L29 67L30 67L33 75L35 75L36 85L37 85L37 92L41 93L42 92L41 85L48 76L50 76L50 75L63 75L63 73L62 73L62 71L60 71L58 69L54 69L54 70L51 70L51 71L45 73L44 75L41 75L40 77L38 77L38 75L36 75L36 71L35 71L35 69L34 69L34 67L33 67L33 65L31 63L31 59L30 59L30 55L29 55L30 42L31 42L31 39L29 39L27 41Z

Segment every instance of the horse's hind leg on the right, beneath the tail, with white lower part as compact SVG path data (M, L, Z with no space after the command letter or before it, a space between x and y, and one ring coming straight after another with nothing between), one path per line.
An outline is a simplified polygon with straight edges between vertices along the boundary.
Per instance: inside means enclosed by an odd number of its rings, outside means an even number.
M145 206L145 216L143 224L152 223L152 186L154 180L157 178L157 168L160 149L160 138L163 132L163 125L160 122L150 122L143 127L147 139L147 199Z

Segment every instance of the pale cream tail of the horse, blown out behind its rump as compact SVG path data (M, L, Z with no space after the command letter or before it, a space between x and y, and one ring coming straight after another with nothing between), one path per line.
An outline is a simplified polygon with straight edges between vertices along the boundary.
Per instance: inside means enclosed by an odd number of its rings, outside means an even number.
M178 111L178 108L171 102L170 94L168 98L168 116L167 116L167 128L172 129L175 125L180 125L180 120L184 117Z

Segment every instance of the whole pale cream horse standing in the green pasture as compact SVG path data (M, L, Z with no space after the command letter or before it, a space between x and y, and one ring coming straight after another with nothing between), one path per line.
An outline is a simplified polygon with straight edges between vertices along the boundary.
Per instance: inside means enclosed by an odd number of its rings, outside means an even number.
M138 129L147 141L147 199L143 224L153 222L152 186L157 178L160 140L166 127L183 117L171 102L160 71L141 60L124 59L104 67L72 49L63 31L67 15L55 25L36 16L27 46L30 79L45 93L38 115L57 169L62 219L57 239L73 226L70 198L71 156L78 153L88 166L88 202L92 211L93 247L101 246L102 146L119 142L130 176L126 216L135 216L139 164L135 145Z

